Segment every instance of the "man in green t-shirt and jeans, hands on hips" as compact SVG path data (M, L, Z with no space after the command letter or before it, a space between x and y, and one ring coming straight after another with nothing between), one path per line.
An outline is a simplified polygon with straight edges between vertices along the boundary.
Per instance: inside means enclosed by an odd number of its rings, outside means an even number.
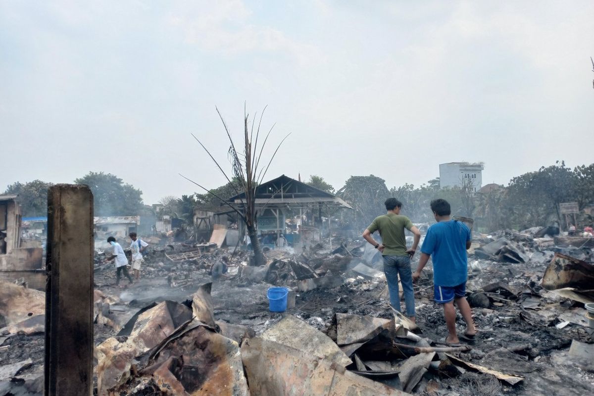
M400 312L400 298L398 295L398 275L405 296L406 316L415 322L415 292L412 289L412 271L410 258L415 254L421 240L419 229L412 225L410 219L400 215L402 202L396 198L388 198L386 202L388 213L378 216L363 233L365 240L375 246L384 257L384 274L388 281L390 304ZM415 235L412 248L406 248L405 229ZM372 233L379 231L382 243L375 242Z

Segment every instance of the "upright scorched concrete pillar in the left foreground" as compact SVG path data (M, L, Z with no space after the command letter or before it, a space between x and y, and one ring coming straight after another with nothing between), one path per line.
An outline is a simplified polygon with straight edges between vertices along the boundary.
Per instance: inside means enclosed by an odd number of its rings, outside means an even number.
M60 184L48 191L45 395L93 391L93 194Z

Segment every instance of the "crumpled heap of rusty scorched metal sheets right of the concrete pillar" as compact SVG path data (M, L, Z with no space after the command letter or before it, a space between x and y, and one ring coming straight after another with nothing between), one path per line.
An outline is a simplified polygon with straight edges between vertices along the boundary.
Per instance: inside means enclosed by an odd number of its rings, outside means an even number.
M238 344L214 331L210 287L192 296L192 309L172 301L142 309L120 332L127 340L97 346L99 395L131 384L143 394L249 395Z

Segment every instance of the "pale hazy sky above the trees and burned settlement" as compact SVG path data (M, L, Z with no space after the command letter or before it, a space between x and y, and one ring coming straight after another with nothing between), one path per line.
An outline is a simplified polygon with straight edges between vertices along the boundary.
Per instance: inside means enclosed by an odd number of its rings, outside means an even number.
M90 170L147 204L225 179L215 106L267 179L374 174L388 188L484 161L484 183L594 162L594 2L0 1L0 134L9 183ZM164 4L166 2L159 2Z

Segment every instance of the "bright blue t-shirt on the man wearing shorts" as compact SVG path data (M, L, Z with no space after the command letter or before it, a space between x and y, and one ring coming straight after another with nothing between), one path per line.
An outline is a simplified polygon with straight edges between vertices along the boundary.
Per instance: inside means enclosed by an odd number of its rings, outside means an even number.
M435 286L454 287L466 282L467 240L470 240L470 229L461 221L440 221L429 227L421 252L433 259Z

